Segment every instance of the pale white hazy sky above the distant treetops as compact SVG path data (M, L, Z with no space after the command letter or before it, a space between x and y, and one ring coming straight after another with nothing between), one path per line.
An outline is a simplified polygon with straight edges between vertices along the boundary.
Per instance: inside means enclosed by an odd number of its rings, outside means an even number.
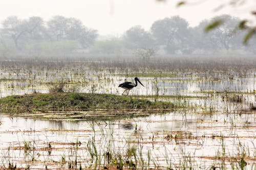
M75 17L89 28L97 29L101 35L120 35L127 29L141 25L149 30L157 19L174 15L185 18L190 26L196 26L206 18L226 13L241 18L248 17L255 8L255 0L240 8L226 7L214 12L223 2L231 0L194 0L190 5L176 7L178 0L159 3L155 0L0 0L0 21L16 15L25 19L40 16L45 20L54 15Z

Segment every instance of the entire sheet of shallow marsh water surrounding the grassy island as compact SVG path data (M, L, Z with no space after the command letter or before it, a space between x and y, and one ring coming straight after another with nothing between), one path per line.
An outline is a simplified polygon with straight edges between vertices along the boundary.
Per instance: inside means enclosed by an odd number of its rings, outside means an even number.
M125 79L133 81L120 75L120 71L83 68L33 69L18 74L13 70L0 72L1 98L33 91L46 93L49 82L61 78L69 82L67 91L75 86L78 92L120 95L123 89L118 85ZM78 166L81 164L84 168L93 166L96 161L104 164L106 153L112 152L115 158L121 155L125 159L137 160L140 167L167 168L172 165L182 168L186 163L186 167L196 169L220 167L223 160L226 168L231 168L232 163L239 166L245 154L246 168L255 168L256 113L250 110L250 104L256 102L255 72L245 76L236 72L178 72L166 78L139 79L145 87L138 85L130 94L198 98L159 98L157 100L186 103L188 108L192 108L147 117L115 119L113 122L40 120L1 115L0 167L8 167L11 163L17 167L30 166L31 169L46 168L46 165L50 169L68 168L69 163L73 165L77 160ZM242 95L243 101L228 102L226 92L230 91ZM95 155L92 156L94 144L100 158L97 160ZM127 156L127 150L131 148L135 148L136 158Z

